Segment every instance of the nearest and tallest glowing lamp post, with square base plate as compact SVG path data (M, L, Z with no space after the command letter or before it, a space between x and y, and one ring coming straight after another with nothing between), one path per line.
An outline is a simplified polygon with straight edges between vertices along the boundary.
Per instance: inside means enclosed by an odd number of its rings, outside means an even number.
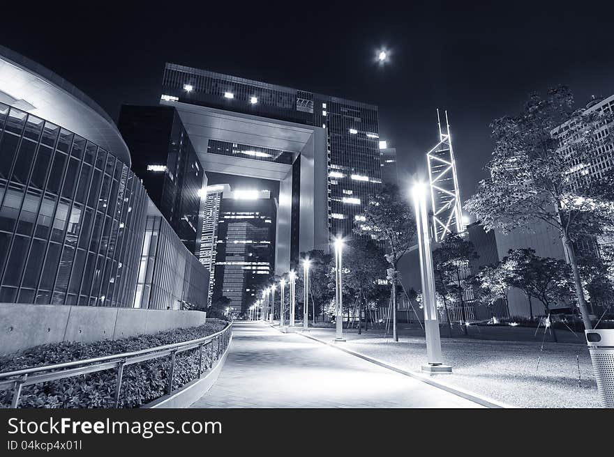
M416 225L418 231L418 250L420 256L420 277L422 283L422 303L424 306L424 330L426 333L427 364L422 371L428 373L451 373L452 367L442 363L441 336L437 320L437 299L435 277L433 275L433 255L430 251L428 215L426 213L426 185L417 183L412 189Z

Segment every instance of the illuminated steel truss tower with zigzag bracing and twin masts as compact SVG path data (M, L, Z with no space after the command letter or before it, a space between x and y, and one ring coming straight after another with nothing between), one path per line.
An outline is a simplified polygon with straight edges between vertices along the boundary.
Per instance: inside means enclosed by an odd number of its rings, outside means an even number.
M452 150L452 137L446 116L445 131L442 130L439 109L437 125L439 126L439 143L426 153L428 177L430 179L430 201L433 205L433 231L435 242L442 242L449 233L463 233L463 212L461 194L458 192L456 162Z

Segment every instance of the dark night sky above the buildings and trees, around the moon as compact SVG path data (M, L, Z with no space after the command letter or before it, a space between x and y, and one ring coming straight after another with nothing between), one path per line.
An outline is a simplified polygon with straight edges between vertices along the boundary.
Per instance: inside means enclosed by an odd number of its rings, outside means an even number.
M484 177L493 118L556 84L580 104L614 93L614 2L23 3L2 7L0 43L116 120L121 103L158 103L166 61L360 100L379 106L405 183L426 169L435 108L447 109L463 200Z

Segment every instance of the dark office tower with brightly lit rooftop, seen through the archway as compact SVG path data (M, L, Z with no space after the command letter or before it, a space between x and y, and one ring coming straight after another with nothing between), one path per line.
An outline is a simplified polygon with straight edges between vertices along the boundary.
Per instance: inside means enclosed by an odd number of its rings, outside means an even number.
M204 224L215 219L217 224L211 242L202 244L201 258L212 259L213 300L228 297L235 311L246 311L275 270L277 202L268 190L232 191L229 185L214 187L211 196L218 208Z

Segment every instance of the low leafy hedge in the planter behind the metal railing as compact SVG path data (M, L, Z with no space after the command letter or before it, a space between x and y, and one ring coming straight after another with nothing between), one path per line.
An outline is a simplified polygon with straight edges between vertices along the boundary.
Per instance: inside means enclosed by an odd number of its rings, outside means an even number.
M126 339L105 339L93 343L63 341L43 344L15 354L1 356L0 372L128 353L190 341L219 332L225 325L225 322L216 320L200 325L200 327L168 330ZM227 339L224 343L227 344ZM198 349L195 348L177 354L173 390L197 378L199 362L197 353ZM203 372L211 366L214 358L214 348L211 345L206 346L203 350ZM170 365L171 357L167 356L126 366L121 382L120 408L138 408L165 395ZM114 408L116 380L117 369L108 369L25 386L22 388L19 406L20 408ZM12 398L13 389L1 391L0 406L10 408Z

